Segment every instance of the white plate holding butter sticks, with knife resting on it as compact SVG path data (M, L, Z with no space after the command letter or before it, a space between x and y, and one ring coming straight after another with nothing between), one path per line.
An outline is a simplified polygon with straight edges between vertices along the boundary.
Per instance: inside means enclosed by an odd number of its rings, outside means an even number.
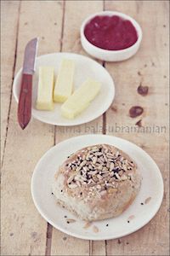
M71 59L76 62L76 72L74 76L74 86L77 89L88 78L96 79L101 82L101 90L90 106L77 116L75 119L65 119L61 116L61 103L55 103L54 111L40 111L35 108L37 100L38 67L54 66L55 78L59 70L62 59ZM20 94L21 69L14 79L14 98L18 102ZM54 53L37 57L36 72L33 76L32 90L32 116L44 123L51 125L81 125L98 118L110 106L115 96L115 85L111 75L98 62L83 56L72 53Z

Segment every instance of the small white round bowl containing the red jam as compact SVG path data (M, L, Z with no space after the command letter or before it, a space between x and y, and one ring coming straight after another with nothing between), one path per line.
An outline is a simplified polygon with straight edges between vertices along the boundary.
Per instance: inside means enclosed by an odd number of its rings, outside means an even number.
M108 49L101 49L97 46L94 46L94 44L91 44L88 41L88 39L85 37L84 28L88 24L88 22L90 20L92 20L97 15L99 15L99 16L101 16L101 15L102 16L117 15L117 16L122 17L123 19L130 20L138 33L138 40L136 41L135 44L128 47L127 49L108 50ZM94 15L88 16L88 18L82 22L80 33L81 33L81 42L82 42L83 49L85 49L89 55L92 55L95 58L102 60L102 61L124 61L124 60L127 60L128 58L135 55L135 53L139 49L139 45L142 40L142 30L141 30L141 27L139 26L139 23L136 20L133 20L133 18L131 18L130 16L124 15L122 13L115 12L115 11L103 11L103 12L95 13Z

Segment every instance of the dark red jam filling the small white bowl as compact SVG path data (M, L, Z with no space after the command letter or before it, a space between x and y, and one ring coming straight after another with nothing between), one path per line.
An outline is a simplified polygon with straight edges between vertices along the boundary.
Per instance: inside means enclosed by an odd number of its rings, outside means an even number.
M91 44L109 50L126 49L138 40L132 22L117 15L95 16L85 26L84 35Z

